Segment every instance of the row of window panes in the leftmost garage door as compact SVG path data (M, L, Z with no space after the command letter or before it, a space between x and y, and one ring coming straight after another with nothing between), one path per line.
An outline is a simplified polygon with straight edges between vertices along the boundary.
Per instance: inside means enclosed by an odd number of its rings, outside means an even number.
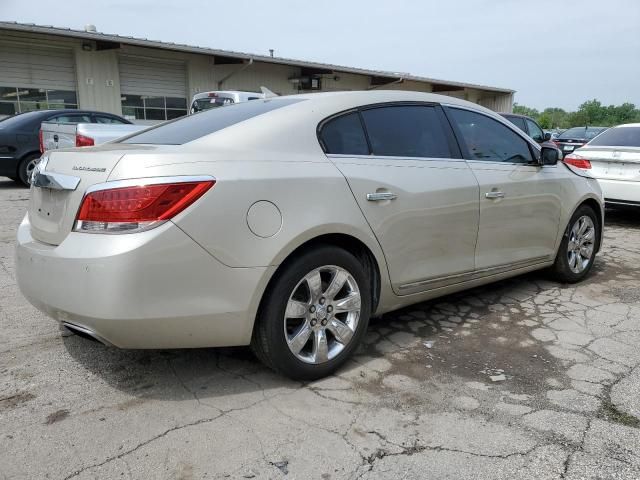
M0 86L0 115L61 108L78 108L76 92Z

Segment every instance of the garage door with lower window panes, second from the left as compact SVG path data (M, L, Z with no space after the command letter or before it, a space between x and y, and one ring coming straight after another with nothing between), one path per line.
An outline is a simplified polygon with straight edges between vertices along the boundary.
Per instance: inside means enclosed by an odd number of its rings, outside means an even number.
M168 120L187 113L184 63L121 56L122 113L131 120Z

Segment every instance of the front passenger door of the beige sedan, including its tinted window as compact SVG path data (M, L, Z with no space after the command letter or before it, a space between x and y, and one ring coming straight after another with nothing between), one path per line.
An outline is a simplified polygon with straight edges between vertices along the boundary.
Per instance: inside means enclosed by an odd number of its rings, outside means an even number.
M487 273L546 262L555 255L563 177L540 166L522 135L483 113L447 107L480 185L476 268Z

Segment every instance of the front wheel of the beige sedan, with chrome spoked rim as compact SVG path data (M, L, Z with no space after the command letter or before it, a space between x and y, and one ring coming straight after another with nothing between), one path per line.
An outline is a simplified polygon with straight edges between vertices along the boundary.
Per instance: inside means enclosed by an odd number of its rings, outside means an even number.
M591 271L600 240L600 222L588 205L579 207L565 230L556 261L551 267L553 278L563 283L577 283Z

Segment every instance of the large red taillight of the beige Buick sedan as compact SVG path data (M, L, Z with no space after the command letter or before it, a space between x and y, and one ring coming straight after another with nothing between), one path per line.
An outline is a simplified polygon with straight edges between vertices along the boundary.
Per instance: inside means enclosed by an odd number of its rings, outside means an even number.
M215 180L150 183L89 191L82 200L74 230L132 233L157 227L200 198ZM210 178L210 179L209 179Z

